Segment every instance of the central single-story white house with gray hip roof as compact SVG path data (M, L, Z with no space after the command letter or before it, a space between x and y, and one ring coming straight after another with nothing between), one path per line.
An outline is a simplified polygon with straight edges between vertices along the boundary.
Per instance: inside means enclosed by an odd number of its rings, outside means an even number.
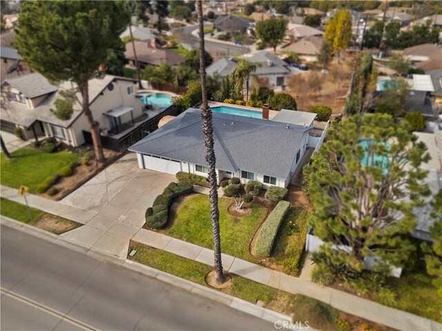
M309 143L311 127L213 112L213 140L218 184L239 177L264 187L289 185ZM207 177L201 110L189 108L128 150L138 165L169 174L189 172Z

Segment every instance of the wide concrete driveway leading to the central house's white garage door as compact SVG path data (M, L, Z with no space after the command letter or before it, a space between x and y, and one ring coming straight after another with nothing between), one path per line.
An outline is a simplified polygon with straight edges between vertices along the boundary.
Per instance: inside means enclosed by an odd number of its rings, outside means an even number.
M60 201L70 206L61 217L84 224L62 236L126 257L128 239L144 225L146 208L171 181L175 176L140 169L136 154L126 154Z

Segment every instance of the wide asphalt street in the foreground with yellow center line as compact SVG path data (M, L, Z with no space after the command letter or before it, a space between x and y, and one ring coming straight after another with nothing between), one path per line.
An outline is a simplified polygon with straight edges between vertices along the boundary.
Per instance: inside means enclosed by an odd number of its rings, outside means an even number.
M1 225L1 330L274 330L227 305Z

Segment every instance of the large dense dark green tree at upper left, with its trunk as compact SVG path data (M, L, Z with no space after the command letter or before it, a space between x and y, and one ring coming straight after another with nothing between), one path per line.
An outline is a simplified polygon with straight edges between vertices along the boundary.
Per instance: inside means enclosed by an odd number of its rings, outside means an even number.
M36 19L38 17L38 19ZM95 157L104 161L99 123L89 108L90 79L130 21L121 1L25 1L15 47L26 64L49 81L72 81L92 134Z

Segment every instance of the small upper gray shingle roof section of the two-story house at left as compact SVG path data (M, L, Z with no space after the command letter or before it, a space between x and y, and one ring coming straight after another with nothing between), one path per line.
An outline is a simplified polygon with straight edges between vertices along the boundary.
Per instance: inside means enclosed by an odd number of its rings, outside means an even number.
M25 74L21 77L6 79L6 82L13 88L17 88L27 98L36 98L50 92L58 90L57 86L53 86L48 79L37 72Z

